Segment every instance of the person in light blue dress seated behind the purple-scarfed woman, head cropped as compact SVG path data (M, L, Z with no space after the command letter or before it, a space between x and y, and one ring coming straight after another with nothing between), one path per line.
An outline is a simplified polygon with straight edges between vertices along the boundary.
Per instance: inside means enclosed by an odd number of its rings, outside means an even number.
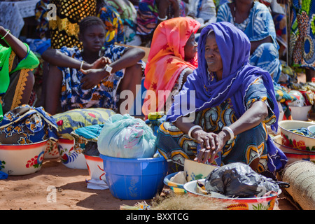
M253 0L224 3L218 8L216 19L216 22L223 21L244 31L251 41L249 62L268 71L277 83L281 75L279 44L276 41L274 21L267 6Z

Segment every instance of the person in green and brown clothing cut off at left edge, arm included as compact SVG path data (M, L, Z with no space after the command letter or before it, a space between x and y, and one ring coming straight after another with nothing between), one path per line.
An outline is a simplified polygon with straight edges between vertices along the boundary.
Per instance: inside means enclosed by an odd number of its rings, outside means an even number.
M34 85L32 70L38 64L29 45L0 26L0 121L6 112L29 103Z

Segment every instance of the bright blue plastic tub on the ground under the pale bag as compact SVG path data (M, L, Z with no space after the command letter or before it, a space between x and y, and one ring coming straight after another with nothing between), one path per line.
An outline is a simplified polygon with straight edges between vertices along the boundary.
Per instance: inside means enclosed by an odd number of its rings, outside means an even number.
M148 200L160 193L167 175L167 160L159 158L125 159L99 155L109 190L121 200Z

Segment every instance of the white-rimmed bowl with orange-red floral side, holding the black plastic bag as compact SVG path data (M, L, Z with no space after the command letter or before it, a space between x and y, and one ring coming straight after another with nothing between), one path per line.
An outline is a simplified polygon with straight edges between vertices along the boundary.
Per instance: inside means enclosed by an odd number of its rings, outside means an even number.
M204 183L204 179L199 180ZM211 197L209 195L202 195L197 193L197 181L190 181L185 183L184 189L188 194L216 198L222 200L223 202L228 202L227 209L229 210L273 210L274 204L276 203L278 195L281 194L281 189L275 195L270 195L266 197L248 197L248 198L230 198L230 197Z

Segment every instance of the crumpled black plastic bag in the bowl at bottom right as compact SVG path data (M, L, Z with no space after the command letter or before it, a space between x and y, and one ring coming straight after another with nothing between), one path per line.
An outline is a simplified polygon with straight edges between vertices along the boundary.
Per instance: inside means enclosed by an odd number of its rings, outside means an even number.
M241 162L218 167L204 181L208 193L227 197L262 197L269 191L279 191L276 181L262 176Z

